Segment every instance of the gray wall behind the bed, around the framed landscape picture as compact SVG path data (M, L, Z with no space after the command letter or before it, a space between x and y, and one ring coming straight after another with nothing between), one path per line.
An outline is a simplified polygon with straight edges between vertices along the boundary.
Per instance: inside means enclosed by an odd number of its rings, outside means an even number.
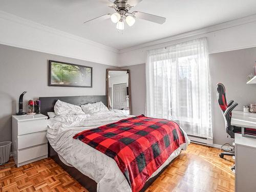
M48 87L49 59L93 67L93 88ZM25 103L40 96L105 95L107 68L115 67L0 45L0 142L11 140L11 115L23 91Z

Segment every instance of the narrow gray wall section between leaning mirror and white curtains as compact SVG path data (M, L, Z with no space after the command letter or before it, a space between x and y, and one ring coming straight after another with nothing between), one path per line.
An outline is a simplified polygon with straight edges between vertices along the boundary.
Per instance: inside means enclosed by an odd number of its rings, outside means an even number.
M145 114L146 76L145 64L122 67L131 71L132 114Z

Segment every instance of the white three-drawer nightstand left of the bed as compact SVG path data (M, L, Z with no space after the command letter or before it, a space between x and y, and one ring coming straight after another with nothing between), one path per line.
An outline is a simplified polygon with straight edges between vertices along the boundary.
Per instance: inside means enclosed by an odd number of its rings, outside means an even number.
M48 157L47 116L12 116L12 156L17 167Z

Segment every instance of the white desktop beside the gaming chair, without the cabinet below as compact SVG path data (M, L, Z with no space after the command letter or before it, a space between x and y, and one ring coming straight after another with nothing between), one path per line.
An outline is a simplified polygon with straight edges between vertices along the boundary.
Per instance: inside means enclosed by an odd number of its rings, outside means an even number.
M231 125L241 126L243 137L256 138L256 136L251 136L244 133L244 128L256 129L256 113L244 113L241 111L233 111Z

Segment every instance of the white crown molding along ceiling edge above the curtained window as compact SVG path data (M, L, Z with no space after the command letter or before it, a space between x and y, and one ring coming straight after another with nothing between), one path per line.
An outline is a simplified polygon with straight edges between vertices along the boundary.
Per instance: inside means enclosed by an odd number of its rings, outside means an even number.
M165 44L165 43L173 41L173 40L179 40L179 39L183 39L183 38L187 38L187 37L191 37L191 36L202 35L202 34L215 32L215 31L219 31L219 30L223 30L223 29L228 29L228 28L232 28L232 27L236 27L236 26L240 26L240 25L245 25L245 24L252 23L252 22L256 22L256 14L238 18L238 19L234 19L234 20L230 20L228 22L224 22L224 23L217 24L217 25L212 25L212 26L205 27L202 29L188 31L188 32L177 34L174 36L169 36L166 38L146 42L145 44L140 44L140 45L133 46L130 48L122 49L122 50L119 50L119 54L135 51L138 49L146 49L148 47L156 46L159 44Z

